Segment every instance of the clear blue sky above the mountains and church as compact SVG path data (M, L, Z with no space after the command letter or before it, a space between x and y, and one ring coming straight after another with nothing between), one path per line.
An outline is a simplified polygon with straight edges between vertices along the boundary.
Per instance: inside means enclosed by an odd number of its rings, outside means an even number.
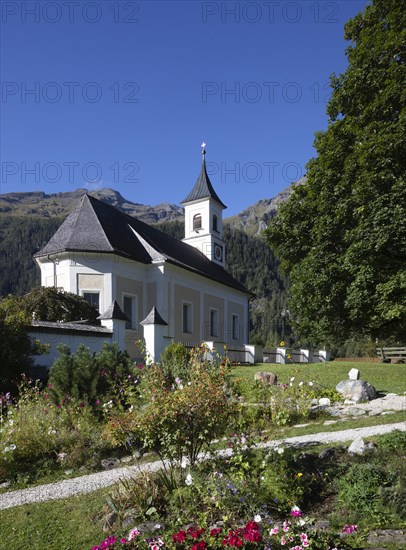
M207 143L225 216L305 173L366 0L1 3L0 193L179 204Z

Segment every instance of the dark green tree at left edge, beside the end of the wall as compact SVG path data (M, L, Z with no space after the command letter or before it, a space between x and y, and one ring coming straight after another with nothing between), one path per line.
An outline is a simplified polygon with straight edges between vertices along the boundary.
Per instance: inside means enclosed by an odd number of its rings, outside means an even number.
M46 351L28 336L30 320L17 298L0 298L0 393L14 391L21 374L32 366L32 356Z

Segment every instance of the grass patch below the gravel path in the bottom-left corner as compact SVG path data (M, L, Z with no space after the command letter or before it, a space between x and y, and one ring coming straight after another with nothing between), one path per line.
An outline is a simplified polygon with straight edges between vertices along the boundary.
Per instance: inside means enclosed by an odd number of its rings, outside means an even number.
M0 511L3 550L86 550L103 540L100 513L111 489Z

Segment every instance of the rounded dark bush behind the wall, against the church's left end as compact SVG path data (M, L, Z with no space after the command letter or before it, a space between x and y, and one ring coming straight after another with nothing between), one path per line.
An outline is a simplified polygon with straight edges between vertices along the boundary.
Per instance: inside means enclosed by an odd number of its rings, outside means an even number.
M99 313L82 296L54 287L34 288L20 299L21 307L40 321L95 322Z

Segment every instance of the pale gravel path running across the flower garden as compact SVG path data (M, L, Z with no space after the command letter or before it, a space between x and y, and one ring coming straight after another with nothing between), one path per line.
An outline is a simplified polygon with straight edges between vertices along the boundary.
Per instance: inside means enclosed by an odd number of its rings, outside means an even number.
M406 422L398 422L396 424L384 424L379 426L371 426L367 428L355 428L342 430L339 432L322 432L317 434L300 435L289 437L287 439L278 439L261 443L259 447L272 448L278 446L298 446L311 445L320 443L335 443L340 441L353 441L359 437L370 437L374 435L382 435L393 430L406 431ZM226 449L222 453L225 455L231 454L231 449ZM0 494L0 510L21 506L31 502L44 502L47 500L58 500L67 498L80 493L91 493L109 487L120 479L133 477L140 471L154 471L161 466L160 462L143 464L141 466L129 466L125 468L116 468L105 472L98 472L82 477L66 479L48 485L40 485L20 491L11 491L9 493Z

